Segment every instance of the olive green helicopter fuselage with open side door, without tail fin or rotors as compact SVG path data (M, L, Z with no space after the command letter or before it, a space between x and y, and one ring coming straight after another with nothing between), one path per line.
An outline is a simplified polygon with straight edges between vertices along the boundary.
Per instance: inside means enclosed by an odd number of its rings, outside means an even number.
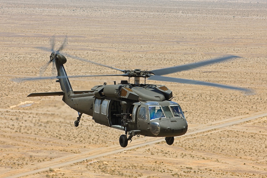
M127 96L128 98L135 97L137 100L128 99ZM154 99L154 101L138 101L140 98ZM134 134L138 135L174 137L183 135L187 131L186 119L181 116L175 117L169 108L175 105L180 106L175 102L165 100L164 93L157 90L155 85L98 85L86 93L74 94L72 98L63 96L63 101L76 111L93 116L94 121L98 124L127 132L134 131ZM168 111L163 110L162 116L152 119L149 114L149 106L169 109ZM145 110L146 117L141 117L140 108ZM169 115L165 112L169 112ZM159 124L158 134L151 132L153 127L150 123Z

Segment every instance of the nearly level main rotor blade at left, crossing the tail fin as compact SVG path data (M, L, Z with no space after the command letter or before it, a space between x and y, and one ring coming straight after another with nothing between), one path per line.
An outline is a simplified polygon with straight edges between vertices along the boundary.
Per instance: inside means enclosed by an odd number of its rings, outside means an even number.
M87 75L87 76L67 76L68 78L78 78L78 77L101 77L101 76L128 76L128 74L111 74L111 75ZM65 76L50 76L50 77L32 77L32 78L15 78L12 81L23 82L29 80L46 80L46 79L63 79L67 78Z

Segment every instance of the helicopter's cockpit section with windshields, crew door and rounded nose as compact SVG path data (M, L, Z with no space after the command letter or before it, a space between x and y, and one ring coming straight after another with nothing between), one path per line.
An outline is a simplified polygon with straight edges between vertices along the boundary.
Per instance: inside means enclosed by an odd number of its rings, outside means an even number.
M134 106L133 117L135 113L138 118L138 129L147 136L175 137L185 134L188 128L182 109L176 102L143 102Z

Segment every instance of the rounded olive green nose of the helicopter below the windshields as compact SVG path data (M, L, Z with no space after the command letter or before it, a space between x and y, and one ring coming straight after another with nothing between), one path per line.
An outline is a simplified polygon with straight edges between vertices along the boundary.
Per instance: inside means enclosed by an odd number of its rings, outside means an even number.
M164 134L165 137L184 135L188 128L187 121L184 118L161 120L159 124L160 133Z

